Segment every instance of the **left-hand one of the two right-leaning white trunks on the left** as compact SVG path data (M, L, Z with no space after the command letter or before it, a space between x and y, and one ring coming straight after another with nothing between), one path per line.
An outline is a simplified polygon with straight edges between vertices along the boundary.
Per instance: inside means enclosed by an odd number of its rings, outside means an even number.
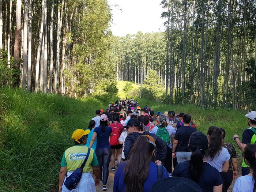
M35 93L37 93L37 90L38 90L40 56L42 57L41 49L43 44L44 20L45 20L44 17L45 17L45 0L42 0L41 27L40 27L39 40L38 40L38 49L37 49L37 65L35 67ZM41 75L40 75L40 79L41 79ZM41 82L40 82L40 89L42 88L44 87L41 87Z

